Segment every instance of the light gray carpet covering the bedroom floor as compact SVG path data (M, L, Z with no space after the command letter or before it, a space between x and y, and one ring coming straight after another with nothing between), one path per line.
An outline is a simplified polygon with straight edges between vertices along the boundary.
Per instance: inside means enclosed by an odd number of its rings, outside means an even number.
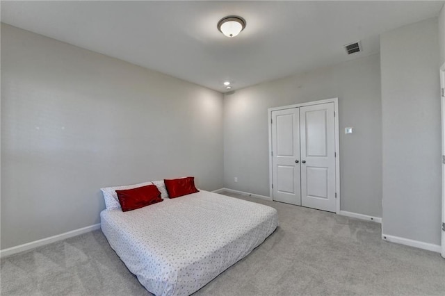
M277 208L280 227L195 295L445 295L445 260L380 224L226 194ZM1 295L149 293L98 230L3 258Z

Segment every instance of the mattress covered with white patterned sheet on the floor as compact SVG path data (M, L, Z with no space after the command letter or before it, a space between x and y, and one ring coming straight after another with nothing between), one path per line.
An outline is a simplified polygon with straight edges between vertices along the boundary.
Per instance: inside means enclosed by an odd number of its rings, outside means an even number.
M111 247L155 295L194 293L252 252L277 224L275 208L204 190L101 213Z

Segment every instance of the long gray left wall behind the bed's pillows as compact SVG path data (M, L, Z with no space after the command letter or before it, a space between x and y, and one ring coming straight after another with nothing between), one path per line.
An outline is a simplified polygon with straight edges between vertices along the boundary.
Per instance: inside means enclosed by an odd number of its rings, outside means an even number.
M223 95L1 25L1 249L99 223L99 188L223 187Z

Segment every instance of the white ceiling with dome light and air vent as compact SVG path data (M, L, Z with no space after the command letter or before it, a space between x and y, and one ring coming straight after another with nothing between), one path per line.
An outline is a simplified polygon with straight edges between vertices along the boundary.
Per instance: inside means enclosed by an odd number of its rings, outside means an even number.
M225 92L379 51L444 1L2 1L1 22ZM227 15L247 26L216 28ZM362 40L347 56L344 44Z

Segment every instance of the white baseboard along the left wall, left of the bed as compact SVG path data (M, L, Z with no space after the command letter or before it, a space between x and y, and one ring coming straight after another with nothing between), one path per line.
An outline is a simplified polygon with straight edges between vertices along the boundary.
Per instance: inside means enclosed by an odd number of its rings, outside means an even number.
M95 224L79 229L75 229L72 231L68 231L65 233L60 233L56 236L50 236L49 238L42 238L41 240L35 240L33 242L26 242L26 244L18 245L15 247L10 247L8 249L0 250L0 258L4 256L9 256L12 254L16 254L19 252L28 251L29 249L34 249L35 247L40 247L43 245L48 245L51 242L57 242L59 240L65 240L66 238L72 238L73 236L79 236L83 233L87 233L96 229L100 229L100 224Z

